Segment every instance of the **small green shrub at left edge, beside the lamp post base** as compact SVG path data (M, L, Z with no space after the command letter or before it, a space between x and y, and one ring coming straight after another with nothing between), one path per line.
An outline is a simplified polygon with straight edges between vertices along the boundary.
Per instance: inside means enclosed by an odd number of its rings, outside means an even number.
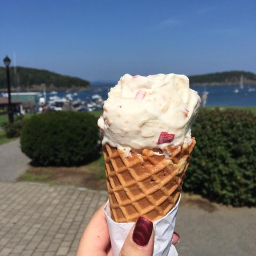
M23 116L16 116L14 118L13 123L4 122L2 124L2 127L5 131L6 137L7 138L20 137L24 122L25 120Z

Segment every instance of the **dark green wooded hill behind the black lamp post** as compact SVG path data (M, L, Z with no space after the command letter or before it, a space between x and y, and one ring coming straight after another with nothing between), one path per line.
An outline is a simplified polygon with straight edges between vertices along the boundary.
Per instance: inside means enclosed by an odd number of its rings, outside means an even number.
M89 81L78 77L71 77L53 73L44 69L17 67L17 76L14 76L14 68L10 68L11 86L20 89L29 87L37 89L41 84L46 85L46 89L58 90L64 88L87 88L90 87ZM0 67L0 89L6 87L6 71L4 67Z

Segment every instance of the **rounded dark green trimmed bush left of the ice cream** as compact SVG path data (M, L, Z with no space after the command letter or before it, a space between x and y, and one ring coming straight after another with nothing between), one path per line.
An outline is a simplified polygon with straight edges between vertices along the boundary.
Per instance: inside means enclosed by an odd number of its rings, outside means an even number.
M97 119L89 113L48 112L31 117L21 133L21 150L37 165L70 166L98 153Z

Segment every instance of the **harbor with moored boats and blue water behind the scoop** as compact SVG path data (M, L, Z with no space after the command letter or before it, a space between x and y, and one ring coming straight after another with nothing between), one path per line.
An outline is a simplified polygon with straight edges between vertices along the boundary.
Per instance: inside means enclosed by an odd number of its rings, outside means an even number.
M256 85L191 86L202 98L205 107L251 107L256 104ZM109 87L92 87L84 91L15 92L12 99L20 102L17 114L46 111L101 110ZM6 92L0 98L7 98ZM17 109L17 108L15 108Z

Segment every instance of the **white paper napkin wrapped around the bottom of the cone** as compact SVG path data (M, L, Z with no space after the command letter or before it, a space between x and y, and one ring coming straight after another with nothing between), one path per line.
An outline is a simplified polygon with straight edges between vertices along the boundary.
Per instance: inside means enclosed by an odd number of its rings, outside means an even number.
M178 256L178 253L172 244L172 235L175 227L176 215L180 198L175 207L162 219L154 221L155 244L153 256ZM124 241L129 234L134 222L118 223L111 219L109 201L104 208L108 230L110 235L111 247L114 256L118 256Z

